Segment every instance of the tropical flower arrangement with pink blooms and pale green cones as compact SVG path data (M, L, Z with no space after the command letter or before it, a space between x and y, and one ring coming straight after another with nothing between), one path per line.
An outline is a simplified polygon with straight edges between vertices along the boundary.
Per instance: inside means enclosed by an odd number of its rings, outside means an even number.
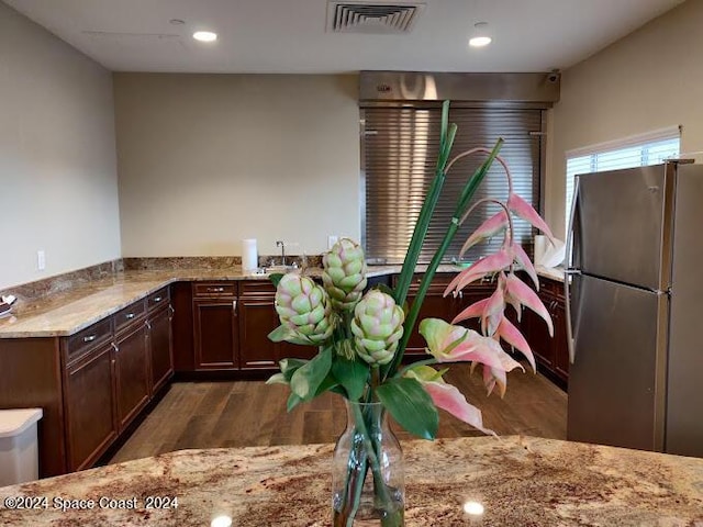
M364 250L347 238L341 239L324 255L322 285L299 273L271 277L277 284L276 310L281 325L271 332L269 338L317 346L320 351L309 361L292 358L281 360L280 373L268 382L290 386L289 411L327 391L347 400L352 427L347 434L349 445L342 460L344 475L333 484L335 526L353 525L367 475L371 480L372 508L377 511L381 525L403 525L402 482L394 484L393 475L389 475L388 467L384 467L390 455L384 451L388 440L379 416L382 419L386 412L400 426L421 438L435 437L439 419L437 408L449 412L483 433L493 434L484 428L481 412L469 404L455 386L444 381L446 370L437 370L433 365L471 362L472 369L481 365L488 393L498 388L502 396L507 383L506 373L515 368L522 369L522 366L503 350L500 340L520 350L535 369L527 341L504 314L506 305L511 305L518 317L523 306L533 310L545 319L553 333L547 310L514 272L515 266L520 266L538 288L532 261L513 239L513 214L550 238L551 233L536 211L513 192L507 165L498 156L502 139L493 149L475 148L449 160L456 125L448 125L448 102L445 102L435 178L393 290L379 287L364 292L367 285ZM488 157L459 194L443 243L424 273L415 301L408 306L411 279L447 172L458 159L477 153L488 154ZM476 189L494 160L505 169L509 186L506 202L489 199L471 204ZM405 346L438 265L466 217L487 201L500 205L500 212L471 234L461 254L500 234L503 235L503 244L496 253L480 258L459 272L447 287L445 296L457 294L488 276L495 278L495 291L490 298L468 306L451 323L438 318L422 321L419 330L427 343L428 358L403 366ZM472 317L480 318L480 333L457 325Z

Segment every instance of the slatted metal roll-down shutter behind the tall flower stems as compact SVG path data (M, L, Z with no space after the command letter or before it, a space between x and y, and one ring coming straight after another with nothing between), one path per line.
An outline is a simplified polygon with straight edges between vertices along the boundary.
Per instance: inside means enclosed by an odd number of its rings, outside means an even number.
M439 148L439 108L367 108L361 110L362 139L362 243L370 262L400 264L405 257L413 228L434 178ZM501 156L514 178L514 190L533 205L539 202L542 110L457 108L449 122L458 126L450 157L473 147L491 148L499 137L505 139ZM429 262L442 243L455 211L459 192L468 178L483 162L486 155L459 160L447 176L439 203L429 224L420 261ZM505 172L496 162L475 194L482 198L507 198ZM478 208L461 226L445 261L457 259L461 245L498 205ZM516 239L528 248L532 228L515 222ZM464 256L475 260L502 243L498 236Z

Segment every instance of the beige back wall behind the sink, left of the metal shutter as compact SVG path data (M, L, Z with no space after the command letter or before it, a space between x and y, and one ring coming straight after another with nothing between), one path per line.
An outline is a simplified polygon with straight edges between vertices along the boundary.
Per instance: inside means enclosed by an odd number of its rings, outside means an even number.
M114 74L122 253L359 238L356 76Z

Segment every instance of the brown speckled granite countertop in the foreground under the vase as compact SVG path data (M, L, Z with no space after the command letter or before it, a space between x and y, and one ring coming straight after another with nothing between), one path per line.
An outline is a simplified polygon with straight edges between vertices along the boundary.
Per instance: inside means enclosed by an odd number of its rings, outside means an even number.
M703 459L521 436L402 446L409 527L703 525ZM0 524L326 526L332 449L182 450L7 486ZM469 516L467 502L483 514Z

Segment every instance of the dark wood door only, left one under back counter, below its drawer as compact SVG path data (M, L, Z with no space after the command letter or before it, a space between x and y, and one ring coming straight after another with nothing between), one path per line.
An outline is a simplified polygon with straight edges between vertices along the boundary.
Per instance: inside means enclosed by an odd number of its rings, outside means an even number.
M234 370L238 368L236 306L236 300L193 300L197 370Z

